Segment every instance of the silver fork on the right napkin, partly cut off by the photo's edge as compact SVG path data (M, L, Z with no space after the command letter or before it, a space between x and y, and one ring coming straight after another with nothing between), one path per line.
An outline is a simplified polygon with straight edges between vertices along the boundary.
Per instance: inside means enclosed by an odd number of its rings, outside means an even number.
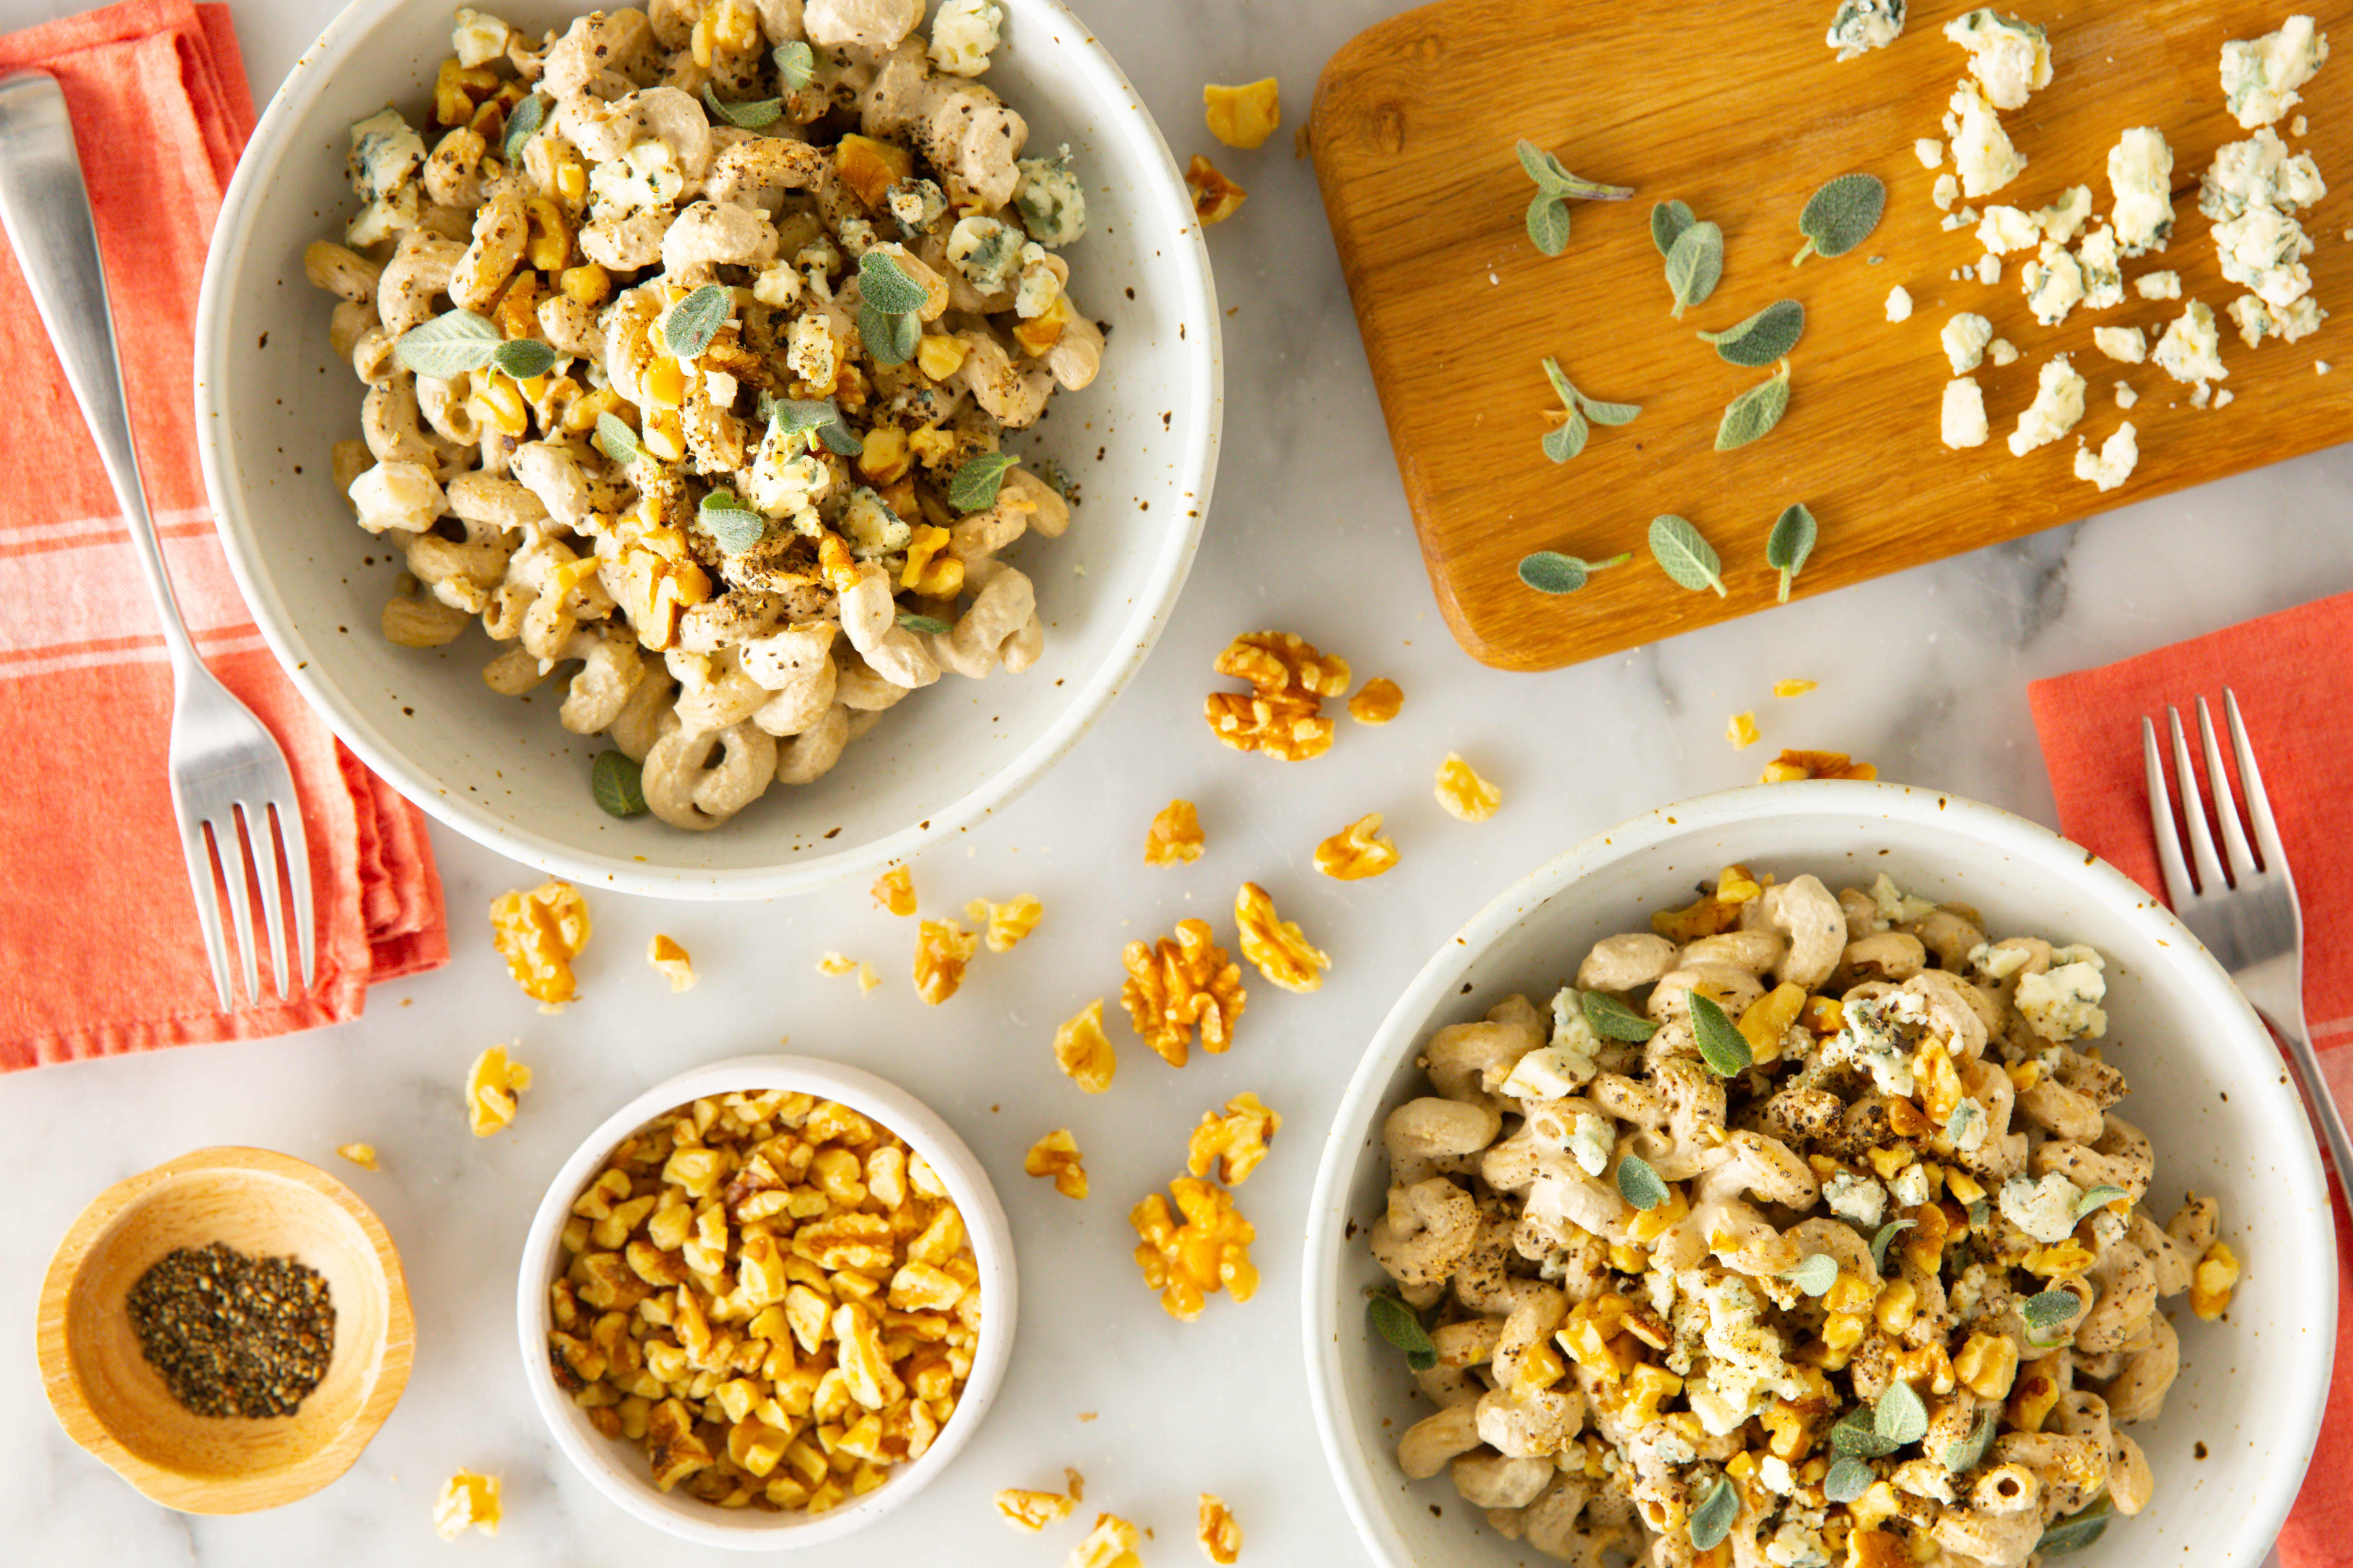
M2188 865L2181 860L2174 804L2165 792L2158 726L2141 719L2141 750L2148 759L2148 820L2158 839L2158 865L2165 870L2165 896L2191 936L2205 943L2207 952L2231 971L2264 1023L2287 1041L2287 1060L2304 1079L2304 1098L2327 1138L2337 1180L2353 1185L2353 1138L2346 1135L2346 1119L2329 1095L2329 1081L2320 1074L2320 1058L2313 1056L2313 1041L2304 1030L2304 912L2297 905L2297 882L2287 870L2287 853L2280 849L2271 799L2264 795L2264 771L2254 762L2254 748L2247 745L2247 724L2238 717L2238 696L2226 689L2221 705L2231 722L2238 780L2247 790L2254 844L2247 844L2247 830L2238 820L2231 776L2224 773L2221 745L2214 738L2214 715L2207 710L2207 701L2198 698L2198 738L2205 748L2207 788L2214 790L2214 820L2221 825L2224 842L2224 853L2214 853L2214 835L2207 830L2205 802L2198 795L2198 769L2191 764L2191 743L2181 733L2181 710L2167 703L2165 722L2172 729L2174 773L2181 780L2181 820L2191 835Z

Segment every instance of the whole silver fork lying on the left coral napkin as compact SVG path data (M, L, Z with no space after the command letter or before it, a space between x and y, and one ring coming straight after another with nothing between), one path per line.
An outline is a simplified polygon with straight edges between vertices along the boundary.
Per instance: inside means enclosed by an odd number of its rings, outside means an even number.
M99 458L122 501L122 517L129 524L132 543L139 545L148 592L162 616L162 642L172 656L174 684L172 809L179 816L179 842L188 858L195 919L205 933L205 957L212 959L212 985L221 1011L233 1006L228 954L221 950L224 886L245 971L245 994L261 1001L247 879L261 889L271 969L278 973L278 997L287 997L294 954L282 940L280 842L285 844L285 882L294 905L294 943L301 947L301 983L308 990L318 973L318 954L311 933L311 853L296 809L294 776L261 719L233 698L198 658L179 616L162 545L155 541L155 522L148 517L146 487L139 480L139 454L132 447L132 421L122 400L115 324L106 303L106 273L99 268L99 233L89 216L82 160L73 148L66 94L56 80L38 71L0 75L0 230L7 230L16 247L33 303L49 329L56 357L66 367L66 381L73 383L73 397L82 404L82 418L89 421L89 433L96 437Z

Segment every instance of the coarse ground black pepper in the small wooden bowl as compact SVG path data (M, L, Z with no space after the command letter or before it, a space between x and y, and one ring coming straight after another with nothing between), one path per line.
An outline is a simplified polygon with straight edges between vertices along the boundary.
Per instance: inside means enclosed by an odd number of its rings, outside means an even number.
M334 1354L327 1279L224 1241L165 1253L127 1307L148 1366L198 1415L294 1415Z

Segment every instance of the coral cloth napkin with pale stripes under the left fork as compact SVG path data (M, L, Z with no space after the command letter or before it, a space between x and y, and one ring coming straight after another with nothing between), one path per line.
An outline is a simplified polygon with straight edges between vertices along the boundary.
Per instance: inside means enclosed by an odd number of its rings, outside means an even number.
M113 292L148 505L214 675L278 736L311 839L318 987L214 1011L165 741L172 668L120 503L0 244L0 1070L358 1018L449 957L424 818L358 764L264 646L205 505L191 360L205 244L252 94L226 5L132 0L0 38L66 89ZM259 933L256 933L259 940ZM268 969L264 987L268 985Z

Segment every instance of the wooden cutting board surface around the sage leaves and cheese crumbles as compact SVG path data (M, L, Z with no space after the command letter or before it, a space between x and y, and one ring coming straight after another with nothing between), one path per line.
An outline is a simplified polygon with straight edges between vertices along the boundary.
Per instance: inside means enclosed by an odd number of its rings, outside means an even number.
M2304 214L2318 242L2315 296L2337 320L2299 343L2245 348L2224 317L2226 284L2198 214L2198 176L2240 132L2221 103L2224 40L2285 19L2252 0L2047 0L2014 5L2049 28L2054 82L2002 115L2026 172L1988 197L2028 212L2068 186L2092 188L2106 219L2108 148L2155 125L2174 148L2172 244L2125 263L2125 303L2078 308L2038 327L2019 287L2028 252L2000 282L1951 282L1981 247L1944 233L1934 174L1913 158L1965 71L1941 28L1969 9L1913 0L1904 35L1857 61L1821 38L1833 0L1440 0L1348 42L1315 89L1313 148L1325 209L1355 299L1405 494L1438 604L1475 658L1548 670L1774 602L1765 536L1805 501L1821 543L1798 592L1814 595L2132 501L2275 463L2353 437L2353 0L2304 7L2334 35L2337 59L2297 113L2332 190ZM2292 118L2292 115L2289 115ZM1527 136L1586 179L1635 186L1631 202L1572 202L1567 252L1541 256L1525 233L1534 186L1513 160ZM1835 174L1887 181L1887 216L1861 249L1791 268L1798 212ZM1946 158L1951 169L1951 158ZM1725 230L1715 294L1673 320L1649 242L1649 207L1680 197ZM1977 202L1984 207L1986 202ZM1878 266L1868 259L1882 256ZM2146 301L2132 280L2181 273L2184 301ZM1885 320L1904 284L1913 315ZM1694 339L1774 299L1807 308L1781 428L1718 454L1722 407L1767 378L1725 364ZM2191 388L2153 364L2118 364L2092 327L2144 327L2151 346L2188 299L2224 329L2226 409L2193 409ZM1944 322L1977 310L2021 357L1979 371L1988 444L1948 451L1939 402L1951 369ZM2005 437L2033 400L2035 371L2068 353L2092 390L2064 442L2009 456ZM1584 456L1555 465L1539 440L1558 407L1539 360L1560 360L1598 400L1642 416L1595 428ZM2315 360L2339 360L2329 376ZM2139 404L2115 407L2115 381ZM2075 435L2099 447L2139 430L2132 480L2101 494L2073 475ZM1689 517L1722 552L1729 599L1675 588L1645 552L1659 512ZM1515 581L1539 548L1635 559L1577 595L1548 599ZM2224 555L2228 538L2214 538Z

